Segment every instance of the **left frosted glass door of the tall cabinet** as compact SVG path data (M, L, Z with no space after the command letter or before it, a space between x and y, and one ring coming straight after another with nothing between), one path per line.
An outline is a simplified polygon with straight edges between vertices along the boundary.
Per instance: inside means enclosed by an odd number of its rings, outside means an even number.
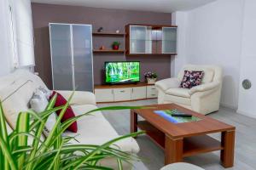
M49 24L53 88L73 90L70 25Z

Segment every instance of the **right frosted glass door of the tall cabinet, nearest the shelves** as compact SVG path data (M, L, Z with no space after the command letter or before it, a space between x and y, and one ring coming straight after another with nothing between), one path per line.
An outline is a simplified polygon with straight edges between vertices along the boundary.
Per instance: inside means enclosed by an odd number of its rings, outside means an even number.
M93 92L91 26L73 25L73 71L76 90Z

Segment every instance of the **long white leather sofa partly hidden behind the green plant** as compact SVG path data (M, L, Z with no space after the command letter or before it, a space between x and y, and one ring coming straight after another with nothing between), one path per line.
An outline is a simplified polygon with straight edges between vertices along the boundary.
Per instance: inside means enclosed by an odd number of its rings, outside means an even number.
M29 71L15 71L6 77L0 77L0 99L3 102L3 111L9 122L9 127L15 127L15 121L20 111L29 110L29 100L36 88L47 88L44 82ZM59 91L66 99L72 94L71 91ZM76 115L96 109L95 95L90 92L75 92L71 101L73 111ZM111 124L98 111L91 116L84 116L78 121L78 133L65 133L77 136L80 144L104 144L111 139L119 137ZM77 143L73 140L73 143ZM135 139L121 140L113 147L126 152L137 154L139 146ZM116 161L109 160L108 166L114 167Z

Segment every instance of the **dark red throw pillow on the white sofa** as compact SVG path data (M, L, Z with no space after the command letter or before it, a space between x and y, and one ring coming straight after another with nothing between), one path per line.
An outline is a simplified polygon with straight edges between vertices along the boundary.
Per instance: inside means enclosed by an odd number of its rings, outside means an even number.
M57 94L57 98L55 101L55 107L61 106L61 105L66 105L67 104L67 100L59 93L57 92L53 92L50 96L49 99L52 99L54 97L54 95ZM61 113L60 111L56 111L56 114L59 116ZM70 107L70 105L67 107L67 111L64 113L64 115L61 118L61 122L65 122L68 119L74 117L75 114L73 112L73 109ZM67 130L73 132L73 133L77 133L78 132L78 123L77 122L73 122L69 127L67 127Z

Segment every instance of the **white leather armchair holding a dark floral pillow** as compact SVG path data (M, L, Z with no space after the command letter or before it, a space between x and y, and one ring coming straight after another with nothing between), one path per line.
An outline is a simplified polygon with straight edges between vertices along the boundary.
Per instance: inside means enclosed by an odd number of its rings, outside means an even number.
M184 71L204 71L201 85L180 88ZM175 103L204 115L218 111L222 79L222 69L216 65L184 65L177 77L155 82L158 103Z

